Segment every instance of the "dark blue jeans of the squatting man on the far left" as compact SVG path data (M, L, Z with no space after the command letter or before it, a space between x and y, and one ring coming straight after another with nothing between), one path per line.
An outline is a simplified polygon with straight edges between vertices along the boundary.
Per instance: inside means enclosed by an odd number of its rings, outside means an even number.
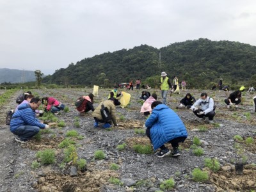
M31 125L21 125L15 131L13 131L13 134L19 136L20 140L29 140L39 131L39 127Z

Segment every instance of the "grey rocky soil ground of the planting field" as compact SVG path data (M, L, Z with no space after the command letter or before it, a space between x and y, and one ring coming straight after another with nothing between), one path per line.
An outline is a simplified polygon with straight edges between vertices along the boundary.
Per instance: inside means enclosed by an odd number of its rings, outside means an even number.
M110 89L100 89L96 97L96 107L102 99L108 97ZM215 100L215 124L195 121L195 115L189 109L176 109L179 100L190 92L196 99L205 90L186 90L180 95L168 94L168 106L183 120L189 133L188 139L180 145L182 155L173 158L171 155L158 158L152 154L139 154L134 151L134 144L150 144L145 133L136 134L134 129L143 129L146 118L140 113L141 95L137 90L123 90L131 94L131 102L127 108L116 107L119 127L102 129L93 127L92 113L79 116L74 106L74 100L81 95L88 95L91 89L56 89L31 90L40 97L52 96L63 102L70 109L69 112L56 116L58 121L65 122L65 127L51 128L42 134L42 139L32 139L29 143L17 143L15 136L5 125L6 111L15 109L15 98L21 91L17 91L1 106L0 110L0 191L160 191L160 184L164 180L173 178L175 187L169 191L253 191L256 189L256 115L253 112L252 97L255 94L243 93L243 104L239 109L227 109L224 99L229 93L207 93ZM6 92L0 91L1 94ZM159 90L156 92L161 100ZM79 122L77 125L77 122ZM63 148L58 145L67 136L66 132L76 130L83 139L76 141L78 159L86 159L86 168L78 171L76 177L70 175L72 162L63 164ZM237 141L234 136L240 135L243 141ZM201 140L204 150L202 156L193 153L193 138ZM248 137L253 138L252 144L246 144ZM116 147L125 143L124 150ZM246 165L242 175L237 175L234 164L239 161L236 144L239 143ZM36 159L36 152L51 148L56 152L56 162L32 168ZM171 149L171 147L169 146ZM97 160L96 150L103 150L106 157ZM221 168L218 172L211 172L205 168L204 159L210 157L218 159ZM39 161L40 163L40 161ZM61 164L62 163L62 164ZM111 170L111 164L117 164L118 170ZM209 173L209 180L196 182L191 175L194 168L201 168ZM120 184L113 184L110 178L116 178ZM122 184L121 184L122 182ZM163 190L162 190L163 191ZM167 191L167 190L166 190Z

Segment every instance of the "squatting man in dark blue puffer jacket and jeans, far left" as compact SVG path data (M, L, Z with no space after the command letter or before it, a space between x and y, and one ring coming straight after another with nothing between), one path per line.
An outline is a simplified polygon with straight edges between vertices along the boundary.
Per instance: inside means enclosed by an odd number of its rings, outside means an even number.
M32 98L28 104L20 104L13 114L10 131L18 136L15 141L27 143L40 129L49 128L49 125L42 124L35 116L35 110L40 104L39 98Z

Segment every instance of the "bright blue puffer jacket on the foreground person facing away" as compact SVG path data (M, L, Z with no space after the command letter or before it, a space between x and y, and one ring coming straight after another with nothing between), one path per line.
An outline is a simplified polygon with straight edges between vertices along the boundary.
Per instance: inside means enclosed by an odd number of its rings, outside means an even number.
M159 104L153 109L145 125L151 128L150 136L154 150L174 138L188 137L188 132L182 120L164 104Z

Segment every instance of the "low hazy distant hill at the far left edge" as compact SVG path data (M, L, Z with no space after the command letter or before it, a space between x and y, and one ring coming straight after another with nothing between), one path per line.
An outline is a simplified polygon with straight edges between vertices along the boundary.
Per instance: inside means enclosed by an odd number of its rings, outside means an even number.
M25 83L35 81L35 72L31 70L0 68L0 74L0 83Z

